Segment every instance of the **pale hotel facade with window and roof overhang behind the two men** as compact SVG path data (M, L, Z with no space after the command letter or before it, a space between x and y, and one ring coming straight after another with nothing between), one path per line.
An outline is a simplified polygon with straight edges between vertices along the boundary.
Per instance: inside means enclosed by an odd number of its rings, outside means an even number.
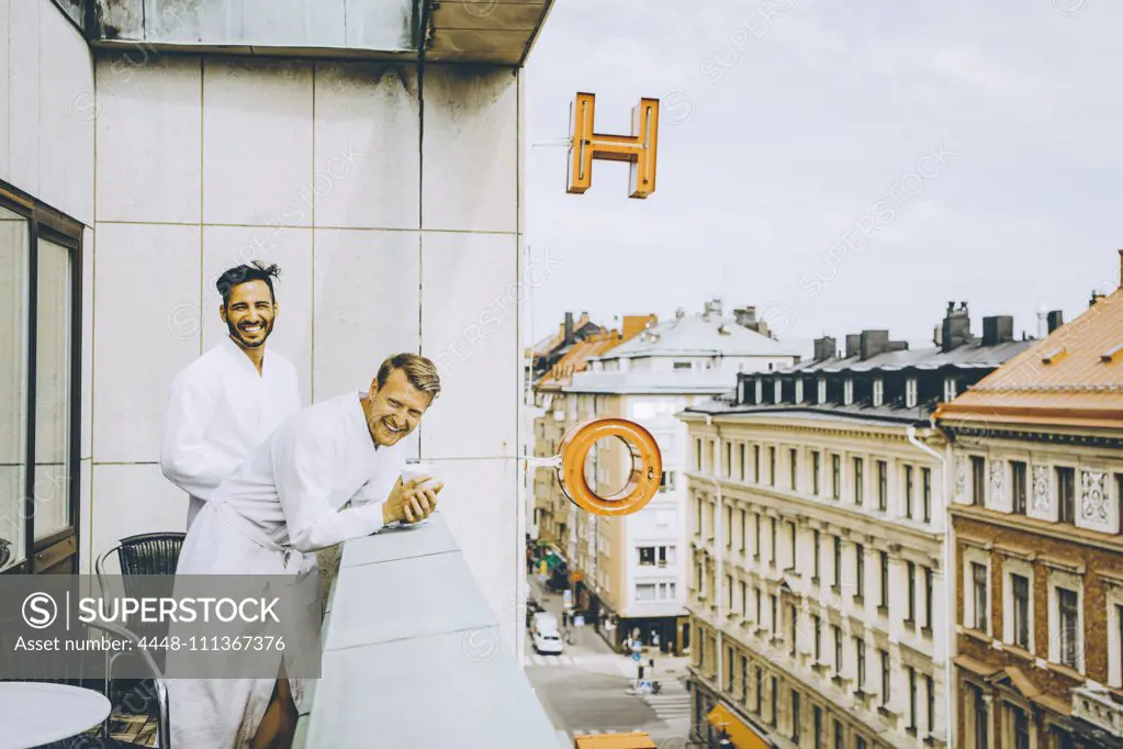
M518 633L520 66L550 2L322 4L0 1L4 567L183 530L167 392L225 335L216 277L263 259L305 405L391 353L441 367L413 449Z

